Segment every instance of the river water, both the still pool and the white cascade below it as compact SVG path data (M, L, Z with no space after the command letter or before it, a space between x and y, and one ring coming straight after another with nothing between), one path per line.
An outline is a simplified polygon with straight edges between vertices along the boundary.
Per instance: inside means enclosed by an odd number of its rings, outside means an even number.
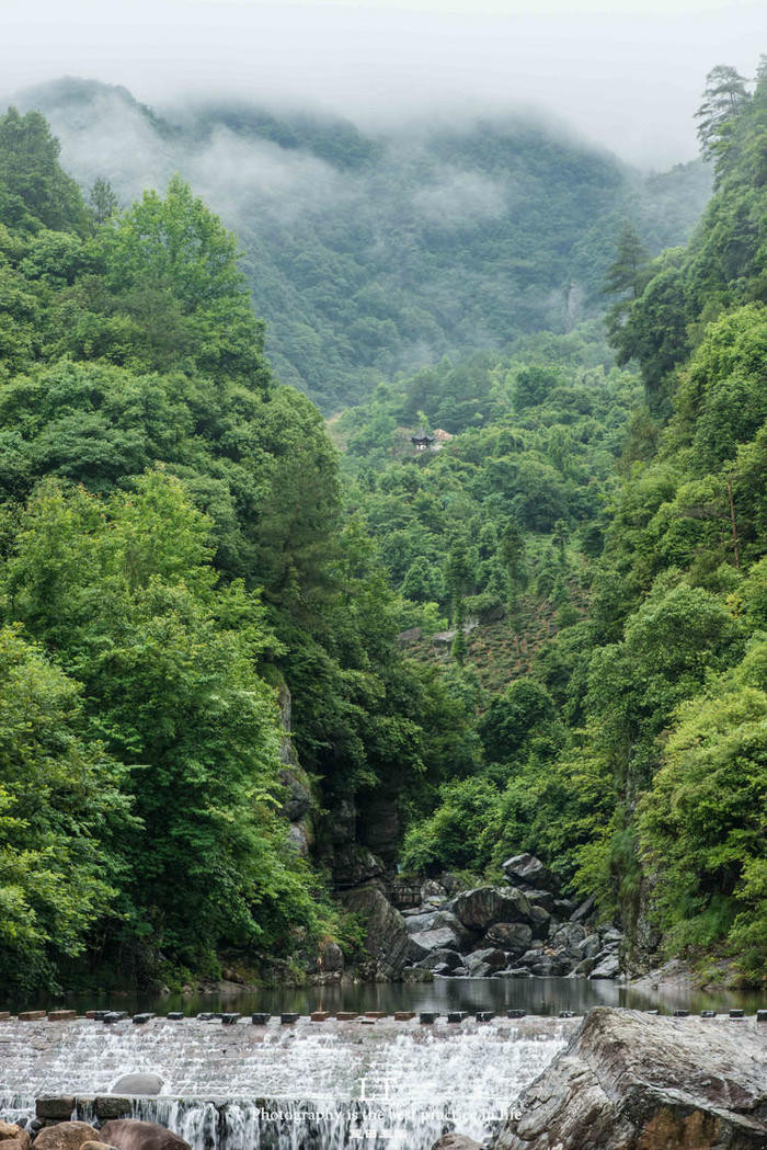
M437 979L159 1000L91 996L69 1005L155 1009L159 1017L144 1025L130 1018L116 1025L0 1021L0 1118L28 1122L36 1098L66 1094L78 1099L76 1117L92 1121L97 1096L114 1092L124 1074L151 1072L162 1079L161 1094L132 1099L132 1117L168 1126L193 1150L430 1150L447 1129L477 1141L490 1135L580 1025L577 1017L560 1019L560 1011L722 1011L736 1004L764 1005L703 995L659 999L582 979ZM528 1017L509 1020L509 1007ZM171 1010L186 1017L162 1017ZM193 1017L204 1010L243 1018L227 1026ZM435 1025L421 1025L417 1015L310 1022L306 1015L314 1010L432 1010L440 1018ZM448 1023L448 1010L469 1017ZM473 1017L480 1010L498 1014L481 1022ZM278 1017L254 1026L254 1011L304 1017L290 1026Z

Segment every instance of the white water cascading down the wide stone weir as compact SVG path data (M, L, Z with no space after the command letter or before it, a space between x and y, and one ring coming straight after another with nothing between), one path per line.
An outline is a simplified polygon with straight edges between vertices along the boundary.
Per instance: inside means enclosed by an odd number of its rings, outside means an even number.
M123 1074L151 1072L162 1094L131 1098L132 1117L193 1150L429 1150L446 1129L482 1141L576 1023L6 1022L0 1117L28 1121L37 1097L71 1095L94 1121Z

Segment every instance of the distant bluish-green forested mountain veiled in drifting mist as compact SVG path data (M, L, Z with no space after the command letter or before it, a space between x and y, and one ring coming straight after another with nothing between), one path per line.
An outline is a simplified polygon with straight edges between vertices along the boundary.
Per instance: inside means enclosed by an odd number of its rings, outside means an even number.
M327 414L443 355L570 330L601 310L624 218L652 253L684 243L706 168L645 177L530 120L365 135L247 103L149 109L61 80L22 93L87 194L126 207L179 172L233 228L283 383Z

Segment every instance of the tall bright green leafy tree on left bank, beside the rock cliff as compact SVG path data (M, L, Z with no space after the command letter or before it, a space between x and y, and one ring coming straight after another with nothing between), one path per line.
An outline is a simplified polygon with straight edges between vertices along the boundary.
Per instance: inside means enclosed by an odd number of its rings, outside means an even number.
M82 680L89 729L132 765L125 942L197 968L320 923L275 813L278 716L254 664L276 644L241 585L216 589L209 535L160 471L108 500L48 481L6 573L13 613Z

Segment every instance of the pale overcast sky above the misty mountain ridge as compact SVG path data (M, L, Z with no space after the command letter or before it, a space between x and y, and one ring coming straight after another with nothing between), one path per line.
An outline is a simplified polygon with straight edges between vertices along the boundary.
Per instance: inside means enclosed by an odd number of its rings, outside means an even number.
M0 0L3 93L85 76L365 126L528 105L657 168L696 154L706 72L762 51L765 0Z

